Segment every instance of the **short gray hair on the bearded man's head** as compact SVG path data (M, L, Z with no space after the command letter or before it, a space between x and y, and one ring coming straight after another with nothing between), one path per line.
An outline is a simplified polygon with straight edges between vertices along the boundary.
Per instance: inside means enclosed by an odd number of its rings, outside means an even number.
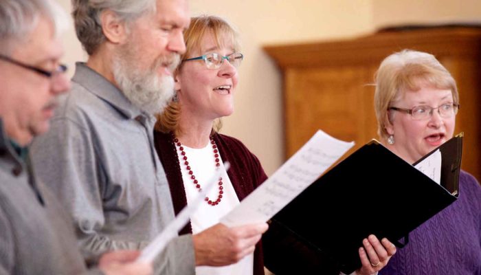
M78 40L87 54L93 54L105 41L100 23L104 10L115 12L121 21L135 21L146 12L155 12L156 0L72 0L72 16Z

